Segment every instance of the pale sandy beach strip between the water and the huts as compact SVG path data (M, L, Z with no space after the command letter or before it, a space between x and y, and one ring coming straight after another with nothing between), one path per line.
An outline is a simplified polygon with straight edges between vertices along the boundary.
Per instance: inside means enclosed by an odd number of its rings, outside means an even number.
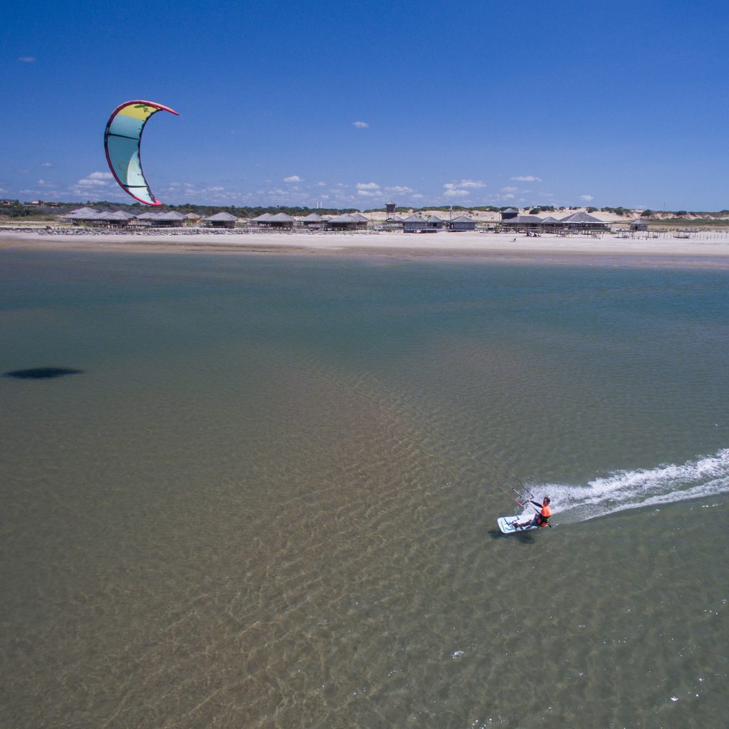
M0 250L278 254L729 269L729 235L693 239L514 233L56 233L1 231Z

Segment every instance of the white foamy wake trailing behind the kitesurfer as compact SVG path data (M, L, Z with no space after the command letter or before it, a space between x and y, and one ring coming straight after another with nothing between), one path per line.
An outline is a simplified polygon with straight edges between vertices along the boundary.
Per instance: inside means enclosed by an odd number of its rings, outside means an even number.
M555 507L553 513L561 516L559 521L562 523L725 494L729 492L729 448L685 464L616 471L590 481L587 486L544 483L534 485L532 491L550 494Z

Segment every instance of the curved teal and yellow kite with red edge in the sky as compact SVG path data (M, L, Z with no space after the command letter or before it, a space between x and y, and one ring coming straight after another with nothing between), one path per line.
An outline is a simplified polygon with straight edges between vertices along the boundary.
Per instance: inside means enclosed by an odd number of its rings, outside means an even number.
M106 161L114 179L122 190L146 205L162 205L149 190L139 157L144 125L157 112L170 112L179 116L174 109L155 104L154 101L126 101L114 109L104 132Z

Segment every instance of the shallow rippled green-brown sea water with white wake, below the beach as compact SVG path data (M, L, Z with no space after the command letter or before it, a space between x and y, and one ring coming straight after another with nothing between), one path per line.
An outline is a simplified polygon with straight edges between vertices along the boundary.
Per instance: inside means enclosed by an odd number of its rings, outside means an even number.
M0 252L0 725L723 727L727 274ZM502 537L512 488L555 529Z

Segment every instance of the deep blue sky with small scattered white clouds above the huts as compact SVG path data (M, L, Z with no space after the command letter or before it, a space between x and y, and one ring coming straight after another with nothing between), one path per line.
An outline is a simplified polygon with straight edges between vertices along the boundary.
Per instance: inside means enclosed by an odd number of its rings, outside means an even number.
M0 196L168 203L729 208L724 1L12 3Z

